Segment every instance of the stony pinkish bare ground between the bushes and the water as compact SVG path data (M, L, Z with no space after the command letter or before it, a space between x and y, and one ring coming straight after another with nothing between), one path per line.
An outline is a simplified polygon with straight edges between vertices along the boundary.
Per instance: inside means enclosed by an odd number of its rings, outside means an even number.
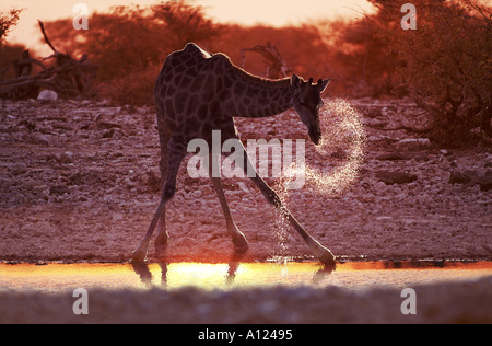
M425 119L409 100L351 103L364 115L364 160L342 193L306 186L291 194L289 207L306 230L347 260L492 260L492 191L450 181L466 171L491 174L492 150L408 140L415 135L397 128L422 127ZM127 261L159 203L153 109L2 101L0 119L0 261ZM293 112L237 124L243 139L306 138ZM348 160L344 148L319 157L308 143L306 152L308 164L328 174ZM227 261L232 242L209 180L187 176L186 162L180 172L167 208L167 255ZM385 183L395 173L410 181ZM279 245L276 212L247 178L224 180L224 188L249 241L245 261L311 255L296 234Z

